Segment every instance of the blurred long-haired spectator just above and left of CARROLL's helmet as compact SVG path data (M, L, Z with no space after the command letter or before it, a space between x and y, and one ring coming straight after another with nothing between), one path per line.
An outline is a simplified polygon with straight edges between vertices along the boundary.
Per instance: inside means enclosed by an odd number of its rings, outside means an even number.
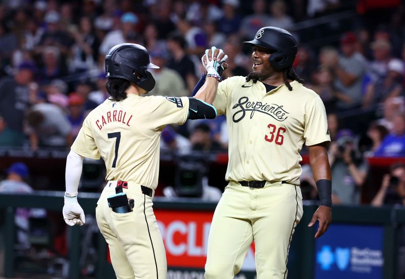
M72 47L70 72L86 72L97 68L100 41L94 32L91 19L87 16L81 17L79 29L73 29L71 33L75 43Z

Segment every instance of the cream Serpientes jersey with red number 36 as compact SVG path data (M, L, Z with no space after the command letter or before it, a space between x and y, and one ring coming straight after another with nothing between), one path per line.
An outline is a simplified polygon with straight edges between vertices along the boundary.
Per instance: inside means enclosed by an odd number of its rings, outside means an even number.
M299 184L307 146L330 141L325 106L301 83L285 84L266 92L260 81L235 76L219 83L214 106L226 114L229 181L267 180ZM236 145L238 143L238 145Z

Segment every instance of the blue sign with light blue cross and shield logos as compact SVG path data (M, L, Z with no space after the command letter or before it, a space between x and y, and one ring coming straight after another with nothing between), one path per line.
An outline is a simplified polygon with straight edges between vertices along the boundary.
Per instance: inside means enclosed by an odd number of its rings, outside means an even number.
M315 251L315 279L382 279L381 226L331 224Z

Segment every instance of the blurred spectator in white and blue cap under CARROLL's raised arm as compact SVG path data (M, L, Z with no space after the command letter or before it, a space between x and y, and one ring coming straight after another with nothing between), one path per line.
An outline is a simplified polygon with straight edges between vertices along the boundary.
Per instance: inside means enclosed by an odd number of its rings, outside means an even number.
M166 126L161 132L160 149L178 152L180 155L189 154L191 144L188 138L178 134L171 126Z

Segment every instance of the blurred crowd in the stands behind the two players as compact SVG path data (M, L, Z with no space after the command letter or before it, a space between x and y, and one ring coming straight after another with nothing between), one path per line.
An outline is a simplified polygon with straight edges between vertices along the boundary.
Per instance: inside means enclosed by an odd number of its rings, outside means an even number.
M365 158L405 157L405 9L391 1L391 16L373 21L366 2L357 7L344 0L0 2L0 147L69 148L87 113L108 98L104 57L115 44L139 43L149 50L160 67L151 70L156 86L149 95L189 96L203 73L200 56L206 48L215 45L228 55L224 79L246 76L251 50L242 41L270 25L298 38L294 68L325 104L335 202L359 203L368 173ZM357 27L339 27L335 40L314 44L300 33L303 20L356 9ZM161 138L161 149L182 154L226 153L227 144L223 116L168 126ZM405 185L399 192L405 193Z

